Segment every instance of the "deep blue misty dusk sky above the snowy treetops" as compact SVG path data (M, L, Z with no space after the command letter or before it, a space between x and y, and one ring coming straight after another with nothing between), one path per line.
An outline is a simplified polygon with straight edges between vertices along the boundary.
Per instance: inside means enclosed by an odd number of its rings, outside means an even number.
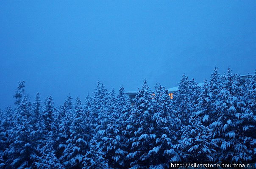
M97 81L116 92L148 80L170 88L183 73L202 82L256 69L256 1L1 1L0 108L17 83L34 100L70 92L84 100Z

